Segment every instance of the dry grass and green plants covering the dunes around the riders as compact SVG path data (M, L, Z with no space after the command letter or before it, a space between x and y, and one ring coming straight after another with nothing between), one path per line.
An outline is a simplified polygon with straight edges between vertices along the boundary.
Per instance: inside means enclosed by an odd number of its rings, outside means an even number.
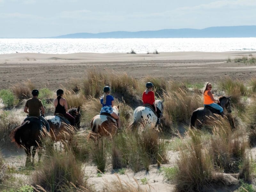
M59 150L52 147L49 138L43 138L44 156L35 167L15 168L0 155L0 191L22 191L24 188L27 191L95 191L93 184L87 181L85 167L88 164L97 167L99 177L107 167L112 167L116 181L105 181L104 191L150 191L147 178L141 181L142 184L136 180L134 185L121 181L118 174L124 174L126 169L134 173L147 172L151 165L159 168L164 181L175 185L176 191L209 191L221 187L253 191L256 162L251 149L256 146L255 78L242 82L226 77L214 82L215 97L232 95L232 113L226 112L226 116L216 120L214 125L198 130L190 129L189 122L192 112L203 106L204 83L190 84L151 76L137 80L125 73L89 71L87 78L73 79L68 87L63 87L68 105L81 107L82 128L71 144L66 145L63 141L63 150ZM156 97L164 100L161 125L156 130L134 132L128 126L133 110L142 105L141 94L148 81L155 85ZM106 85L111 87L111 95L119 105L122 129L112 139L94 141L88 139L90 121L99 114L99 97ZM15 148L9 135L22 119L14 111L23 108L33 88L33 82L28 81L0 90L2 149ZM47 115L52 115L54 90L44 87L39 92ZM179 152L172 165L168 164L168 151ZM233 177L233 182L227 177Z

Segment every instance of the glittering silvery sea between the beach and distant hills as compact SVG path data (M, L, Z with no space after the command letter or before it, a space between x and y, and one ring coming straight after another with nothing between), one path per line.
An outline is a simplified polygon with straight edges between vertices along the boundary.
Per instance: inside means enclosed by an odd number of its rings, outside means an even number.
M250 38L0 38L0 54L49 53L152 53L256 51Z

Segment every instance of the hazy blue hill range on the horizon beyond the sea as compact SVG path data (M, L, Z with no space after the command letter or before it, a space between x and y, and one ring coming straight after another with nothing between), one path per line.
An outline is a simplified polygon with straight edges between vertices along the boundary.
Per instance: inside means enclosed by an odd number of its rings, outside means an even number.
M189 38L189 37L256 37L256 26L209 27L204 29L162 29L157 31L113 31L74 33L49 38Z

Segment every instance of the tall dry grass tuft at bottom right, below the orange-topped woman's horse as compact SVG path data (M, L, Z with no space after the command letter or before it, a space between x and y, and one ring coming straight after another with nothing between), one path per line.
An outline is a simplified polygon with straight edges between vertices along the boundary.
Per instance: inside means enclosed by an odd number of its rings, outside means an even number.
M213 174L212 160L209 151L204 148L198 132L189 130L191 143L180 151L175 175L178 191L204 191L216 183L220 177Z

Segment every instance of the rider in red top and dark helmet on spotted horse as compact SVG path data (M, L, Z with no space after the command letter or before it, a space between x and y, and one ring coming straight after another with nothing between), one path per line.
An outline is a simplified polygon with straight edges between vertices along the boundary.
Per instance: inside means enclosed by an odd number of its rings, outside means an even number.
M146 83L146 90L143 92L142 100L143 100L143 105L150 104L153 110L155 109L157 114L156 124L160 124L160 117L162 116L162 112L160 111L159 108L156 107L155 93L153 92L153 86L154 85L151 82Z

